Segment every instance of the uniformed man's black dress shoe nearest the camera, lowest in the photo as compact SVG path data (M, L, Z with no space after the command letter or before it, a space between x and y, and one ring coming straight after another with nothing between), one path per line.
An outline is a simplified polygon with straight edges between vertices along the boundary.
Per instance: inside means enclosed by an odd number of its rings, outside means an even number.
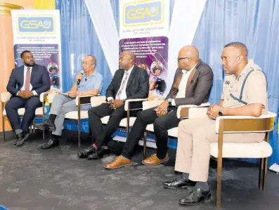
M179 199L179 204L187 205L187 206L195 206L198 204L202 204L203 202L209 202L211 199L211 192L202 191L200 188L195 188L186 197Z

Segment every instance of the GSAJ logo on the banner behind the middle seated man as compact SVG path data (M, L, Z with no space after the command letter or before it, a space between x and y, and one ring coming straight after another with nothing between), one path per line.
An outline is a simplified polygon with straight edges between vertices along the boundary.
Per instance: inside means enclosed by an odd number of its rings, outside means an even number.
M164 1L143 1L138 4L124 5L123 24L126 27L153 25L162 22Z

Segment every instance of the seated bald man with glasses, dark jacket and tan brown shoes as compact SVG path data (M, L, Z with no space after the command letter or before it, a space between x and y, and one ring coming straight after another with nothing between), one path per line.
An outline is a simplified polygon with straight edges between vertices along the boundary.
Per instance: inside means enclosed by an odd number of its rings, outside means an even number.
M177 107L180 105L200 105L207 103L213 83L212 69L199 59L199 52L195 46L184 46L179 51L179 68L174 75L174 83L169 95L158 107L143 110L138 113L136 122L126 140L122 155L115 158L106 169L118 169L131 164L131 156L138 145L138 140L148 124L154 125L157 154L143 160L145 165L167 163L167 140L169 129L179 126L176 117Z

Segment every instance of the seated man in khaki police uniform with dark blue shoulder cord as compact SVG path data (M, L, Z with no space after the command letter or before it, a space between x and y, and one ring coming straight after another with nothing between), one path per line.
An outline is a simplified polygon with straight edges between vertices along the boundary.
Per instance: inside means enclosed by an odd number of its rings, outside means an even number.
M207 184L210 159L209 143L218 141L215 118L220 115L259 117L268 112L266 77L261 68L247 59L247 47L240 42L227 44L221 55L226 76L219 105L209 107L208 119L186 119L179 124L179 143L175 170L183 172L165 188L194 187L179 204L197 205L211 198ZM246 79L245 79L246 78ZM241 89L243 92L241 95ZM264 140L264 133L225 133L224 142L255 143Z

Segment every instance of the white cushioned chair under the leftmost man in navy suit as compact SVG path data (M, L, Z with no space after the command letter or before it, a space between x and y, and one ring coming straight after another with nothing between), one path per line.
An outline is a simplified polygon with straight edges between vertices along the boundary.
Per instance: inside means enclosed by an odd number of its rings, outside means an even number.
M47 96L48 93L41 93L40 97L40 101L41 101L41 107L37 108L35 110L35 118L36 117L42 117L43 122L44 122L44 114L47 112L46 107L44 106L46 100L45 100L45 96ZM3 135L4 135L4 140L6 140L5 138L5 117L6 117L6 110L5 110L5 105L8 102L8 100L10 100L11 98L11 93L9 92L5 92L5 93L1 93L1 107L3 112L2 114L2 126L3 126ZM18 114L20 115L20 117L23 117L25 113L25 108L20 108L18 109ZM30 133L35 133L35 118L33 120L33 125L30 126ZM44 138L44 131L43 131L43 138Z

